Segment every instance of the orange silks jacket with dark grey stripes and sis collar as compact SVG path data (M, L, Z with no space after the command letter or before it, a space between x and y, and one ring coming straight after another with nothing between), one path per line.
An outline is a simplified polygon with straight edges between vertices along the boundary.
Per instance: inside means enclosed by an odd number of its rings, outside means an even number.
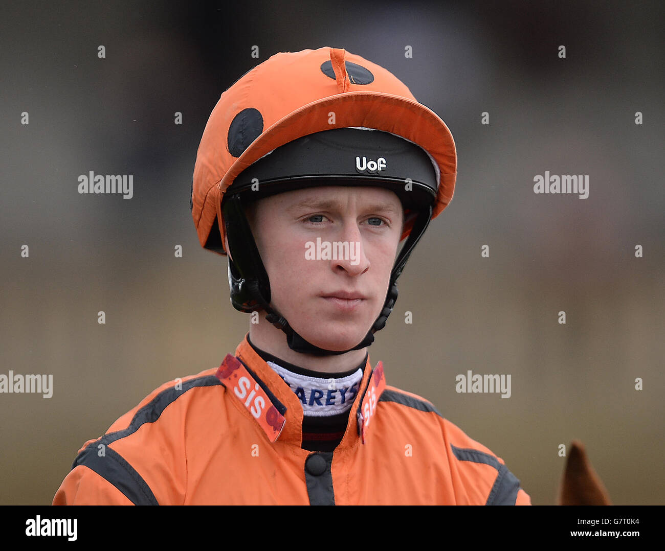
M334 392L334 389L331 390ZM369 358L332 452L301 448L301 401L247 337L160 386L78 451L53 504L531 504L499 457Z

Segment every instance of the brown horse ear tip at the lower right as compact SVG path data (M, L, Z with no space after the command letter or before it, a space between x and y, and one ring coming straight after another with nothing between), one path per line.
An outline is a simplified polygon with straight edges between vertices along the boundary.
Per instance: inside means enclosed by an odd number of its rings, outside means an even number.
M558 505L611 505L610 497L587 457L584 446L573 440L566 461Z

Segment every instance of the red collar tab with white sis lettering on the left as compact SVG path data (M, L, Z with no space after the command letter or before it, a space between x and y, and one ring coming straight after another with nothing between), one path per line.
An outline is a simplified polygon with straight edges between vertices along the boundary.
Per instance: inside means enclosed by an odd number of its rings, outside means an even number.
M269 441L277 441L286 419L245 365L232 354L227 354L215 377L247 408ZM269 407L266 407L267 405Z

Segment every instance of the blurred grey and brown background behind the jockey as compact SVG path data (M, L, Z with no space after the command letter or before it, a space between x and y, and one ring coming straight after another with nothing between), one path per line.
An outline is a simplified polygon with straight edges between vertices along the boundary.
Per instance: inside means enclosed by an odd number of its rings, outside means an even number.
M240 4L3 3L0 374L53 374L53 397L0 394L0 504L51 503L84 441L235 350L249 316L190 211L198 143L244 72L322 46L388 68L458 150L372 364L534 504L555 502L572 439L614 503L663 504L664 5ZM132 174L134 197L80 195L89 171ZM589 198L536 195L545 171L588 174ZM457 393L467 370L511 374L511 397Z

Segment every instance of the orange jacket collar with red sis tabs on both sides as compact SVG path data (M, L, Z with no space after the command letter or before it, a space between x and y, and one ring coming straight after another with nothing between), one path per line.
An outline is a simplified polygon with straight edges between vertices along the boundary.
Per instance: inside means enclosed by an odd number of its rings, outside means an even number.
M235 356L226 356L216 376L227 387L231 399L249 411L269 441L301 446L303 406L293 390L251 347L247 335L235 349ZM372 370L368 355L358 393L349 411L346 432L336 449L354 447L366 441L378 398L385 386L381 362Z

